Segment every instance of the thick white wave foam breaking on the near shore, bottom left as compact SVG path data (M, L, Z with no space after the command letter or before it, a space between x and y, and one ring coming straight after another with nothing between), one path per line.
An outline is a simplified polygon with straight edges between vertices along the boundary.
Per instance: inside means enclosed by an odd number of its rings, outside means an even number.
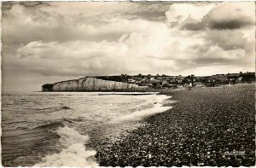
M35 166L98 166L93 159L96 151L86 150L84 146L89 141L89 136L80 135L77 130L67 126L59 128L56 133L61 136L61 153L45 156L43 162Z

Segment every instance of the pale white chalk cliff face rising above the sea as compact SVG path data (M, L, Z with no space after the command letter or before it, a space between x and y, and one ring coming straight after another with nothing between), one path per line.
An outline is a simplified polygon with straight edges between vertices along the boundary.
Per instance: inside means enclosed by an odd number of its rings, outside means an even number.
M99 78L79 78L55 83L53 91L101 91L101 90L143 90L137 84L102 80Z

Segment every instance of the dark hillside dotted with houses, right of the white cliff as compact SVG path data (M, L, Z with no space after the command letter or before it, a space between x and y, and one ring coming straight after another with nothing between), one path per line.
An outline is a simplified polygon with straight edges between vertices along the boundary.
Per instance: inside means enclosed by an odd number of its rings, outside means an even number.
M169 75L127 75L100 76L104 80L112 80L146 86L150 89L177 89L183 87L220 86L227 84L250 84L255 82L255 72L239 72L228 74L215 74L212 76L169 76Z

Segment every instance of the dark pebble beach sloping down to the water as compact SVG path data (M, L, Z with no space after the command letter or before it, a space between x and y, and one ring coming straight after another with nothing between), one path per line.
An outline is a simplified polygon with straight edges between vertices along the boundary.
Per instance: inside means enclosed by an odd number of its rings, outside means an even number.
M173 108L102 142L102 166L255 165L255 85L165 91ZM231 154L231 155L230 155Z

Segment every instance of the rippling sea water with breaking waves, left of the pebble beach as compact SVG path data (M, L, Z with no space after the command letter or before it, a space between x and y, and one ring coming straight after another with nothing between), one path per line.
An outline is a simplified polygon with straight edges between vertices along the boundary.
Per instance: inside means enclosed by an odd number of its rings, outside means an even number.
M5 166L96 166L96 149L117 141L162 113L170 97L100 92L9 92L2 95L2 163ZM139 94L139 93L133 93Z

